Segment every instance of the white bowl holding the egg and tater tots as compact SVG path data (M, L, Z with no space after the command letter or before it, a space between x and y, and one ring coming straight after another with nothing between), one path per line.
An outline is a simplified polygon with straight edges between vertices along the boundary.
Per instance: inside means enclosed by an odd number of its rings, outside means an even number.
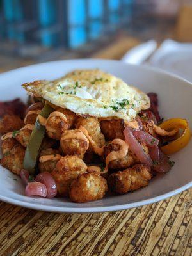
M137 86L144 92L159 95L159 111L166 118L181 117L192 125L192 86L180 77L154 68L128 65L113 60L63 60L31 65L0 74L0 100L26 99L20 84L38 79L56 79L76 68L100 68ZM24 195L20 177L0 166L0 200L31 209L51 212L104 212L152 204L188 189L192 185L192 140L173 154L175 166L165 175L157 175L145 188L125 195L106 196L102 200L75 204L67 198L29 198Z

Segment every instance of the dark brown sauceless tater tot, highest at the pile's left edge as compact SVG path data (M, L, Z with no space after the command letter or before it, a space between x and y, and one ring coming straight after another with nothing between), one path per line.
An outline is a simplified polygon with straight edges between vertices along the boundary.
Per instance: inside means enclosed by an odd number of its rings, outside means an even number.
M4 115L0 120L0 134L19 130L24 126L23 120L16 115Z

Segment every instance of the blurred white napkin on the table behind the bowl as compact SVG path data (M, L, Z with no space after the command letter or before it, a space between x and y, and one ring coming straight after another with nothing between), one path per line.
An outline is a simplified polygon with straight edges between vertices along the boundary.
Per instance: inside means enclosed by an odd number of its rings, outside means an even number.
M144 63L158 67L192 82L192 43L179 43L167 39L157 51L154 51L155 49L156 42L150 40L131 49L122 60L131 64Z

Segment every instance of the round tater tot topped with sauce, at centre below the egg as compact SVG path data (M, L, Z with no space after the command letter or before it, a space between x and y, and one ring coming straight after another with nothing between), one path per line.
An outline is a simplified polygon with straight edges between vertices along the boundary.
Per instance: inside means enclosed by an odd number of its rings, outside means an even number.
M83 132L79 130L68 130L63 132L60 146L65 155L79 155L81 158L89 146L89 141Z

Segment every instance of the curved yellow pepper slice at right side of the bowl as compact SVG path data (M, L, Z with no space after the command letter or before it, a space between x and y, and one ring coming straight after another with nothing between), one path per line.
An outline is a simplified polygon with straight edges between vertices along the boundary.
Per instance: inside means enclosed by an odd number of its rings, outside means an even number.
M168 143L168 145L161 147L161 150L164 152L164 154L166 155L173 154L181 150L182 148L186 147L186 145L189 143L189 140L191 138L191 132L190 132L189 124L186 121L186 119L182 119L182 118L168 119L162 124L160 124L159 127L161 127L166 131L172 131L173 129L184 130L184 132L179 138Z

